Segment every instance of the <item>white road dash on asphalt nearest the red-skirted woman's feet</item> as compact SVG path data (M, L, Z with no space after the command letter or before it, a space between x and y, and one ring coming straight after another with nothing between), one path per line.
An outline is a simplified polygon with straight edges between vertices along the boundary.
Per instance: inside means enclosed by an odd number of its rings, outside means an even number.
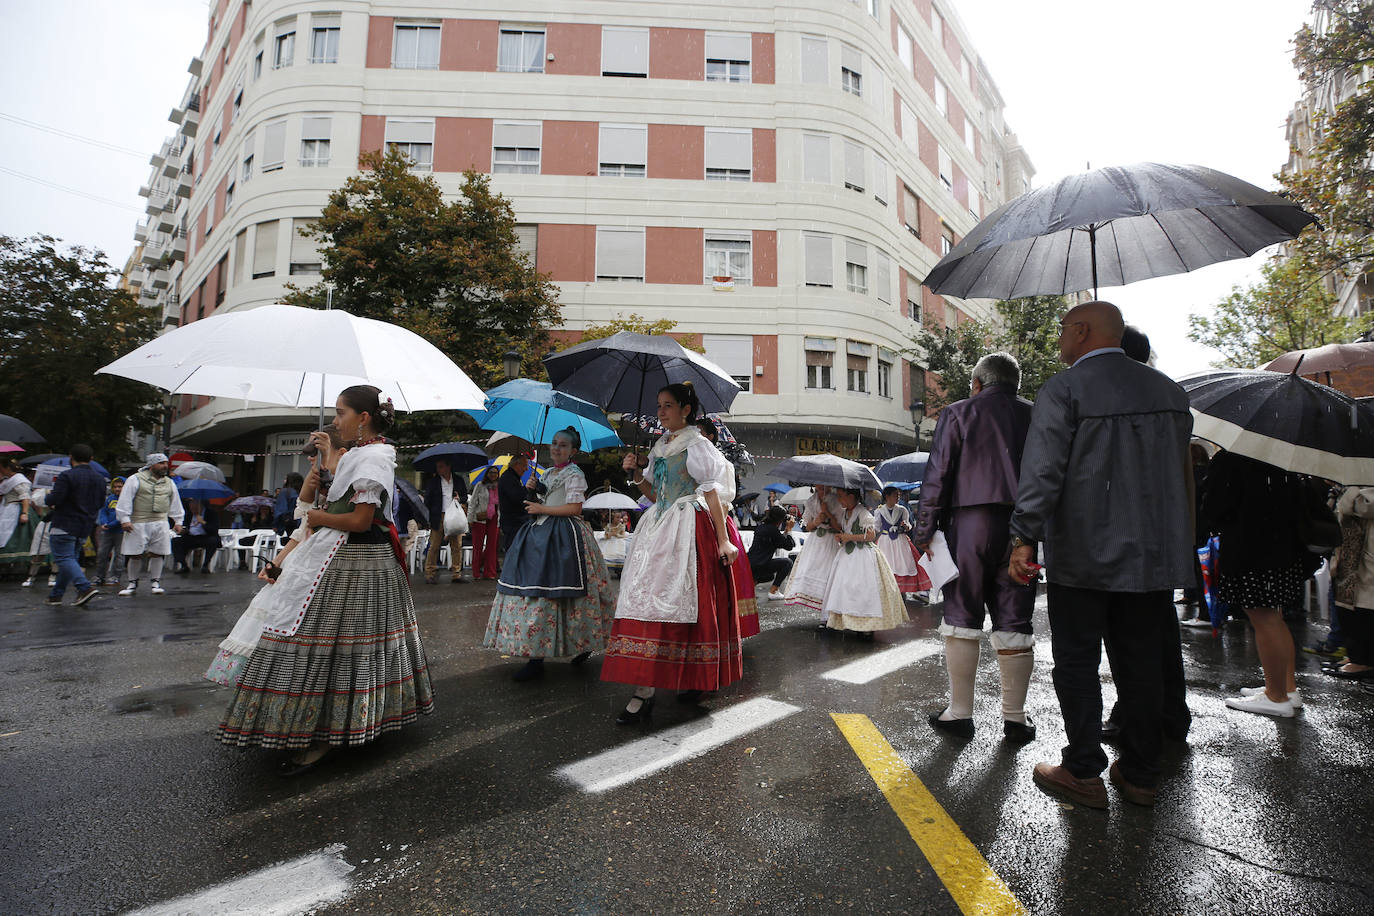
M701 757L725 742L800 711L800 706L760 696L712 713L703 720L559 766L555 772L576 783L584 792L605 792L673 764Z

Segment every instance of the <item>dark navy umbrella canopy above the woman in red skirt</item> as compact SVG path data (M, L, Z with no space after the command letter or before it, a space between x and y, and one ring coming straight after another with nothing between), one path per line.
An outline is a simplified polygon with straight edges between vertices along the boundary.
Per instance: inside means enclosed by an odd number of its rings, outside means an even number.
M658 389L691 382L706 412L730 409L739 386L723 368L671 336L621 331L544 358L559 391L620 413L654 413Z

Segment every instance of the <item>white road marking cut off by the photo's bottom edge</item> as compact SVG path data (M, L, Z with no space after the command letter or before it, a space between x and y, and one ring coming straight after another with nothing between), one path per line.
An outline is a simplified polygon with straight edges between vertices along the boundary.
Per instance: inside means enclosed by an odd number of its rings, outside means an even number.
M323 904L342 900L349 891L353 867L344 861L344 845L326 846L279 865L269 865L243 878L214 884L195 894L140 909L129 916L295 916Z

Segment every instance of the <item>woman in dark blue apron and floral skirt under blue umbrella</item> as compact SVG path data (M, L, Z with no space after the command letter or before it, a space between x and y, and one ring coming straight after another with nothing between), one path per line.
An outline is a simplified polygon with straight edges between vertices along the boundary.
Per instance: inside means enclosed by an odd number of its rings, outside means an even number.
M581 444L573 427L554 434L544 501L526 500L529 523L515 531L496 580L482 645L529 659L517 681L543 677L545 658L572 655L581 665L610 633L610 573L583 519L587 477L572 463Z

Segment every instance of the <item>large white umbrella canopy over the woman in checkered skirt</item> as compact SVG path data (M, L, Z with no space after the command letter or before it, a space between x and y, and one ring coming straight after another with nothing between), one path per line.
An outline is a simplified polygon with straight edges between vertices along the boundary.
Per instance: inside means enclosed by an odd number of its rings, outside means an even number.
M180 394L333 405L375 385L398 411L481 409L482 391L425 338L338 309L262 305L169 331L98 372ZM12 437L11 437L12 438Z

